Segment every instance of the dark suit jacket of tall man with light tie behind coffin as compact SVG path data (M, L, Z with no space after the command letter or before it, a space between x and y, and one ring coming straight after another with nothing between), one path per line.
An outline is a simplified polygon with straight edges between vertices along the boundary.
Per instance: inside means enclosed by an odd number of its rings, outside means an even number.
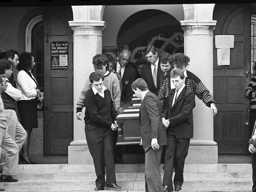
M154 85L153 77L152 77L152 70L151 64L147 63L141 67L141 78L144 79L148 85L148 90L154 93L156 96L158 95L158 91L161 87L161 66L160 66L160 59L158 60L158 68L157 68L157 76L156 76L156 84L157 87Z

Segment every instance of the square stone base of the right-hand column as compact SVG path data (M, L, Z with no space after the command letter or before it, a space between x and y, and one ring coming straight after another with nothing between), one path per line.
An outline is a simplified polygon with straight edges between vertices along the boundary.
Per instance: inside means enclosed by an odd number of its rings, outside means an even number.
M218 164L217 143L210 140L191 140L185 163Z

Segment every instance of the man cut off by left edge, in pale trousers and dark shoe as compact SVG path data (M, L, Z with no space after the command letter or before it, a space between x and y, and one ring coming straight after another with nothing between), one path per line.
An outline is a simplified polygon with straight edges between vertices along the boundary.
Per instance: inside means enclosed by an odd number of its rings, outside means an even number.
M7 88L6 77L0 75L0 93L6 91ZM0 177L0 182L17 182L11 175L18 174L18 161L19 161L19 147L11 139L7 133L6 116L4 112L4 103L0 96L0 145L7 151L6 159L4 162L3 174ZM0 189L4 191L4 189Z

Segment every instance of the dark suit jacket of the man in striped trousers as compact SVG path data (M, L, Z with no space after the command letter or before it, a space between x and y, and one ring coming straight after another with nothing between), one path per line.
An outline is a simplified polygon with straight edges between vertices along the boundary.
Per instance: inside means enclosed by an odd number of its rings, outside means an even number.
M166 128L162 123L162 106L158 97L148 91L139 110L139 124L143 148L151 145L152 138L158 139L161 146L167 144Z

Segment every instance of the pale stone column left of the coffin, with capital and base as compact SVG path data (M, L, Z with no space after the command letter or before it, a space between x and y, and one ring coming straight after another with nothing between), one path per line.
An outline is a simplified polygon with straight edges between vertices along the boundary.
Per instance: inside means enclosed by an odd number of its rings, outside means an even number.
M104 7L72 6L74 20L69 21L69 26L74 38L74 141L69 146L69 164L93 164L85 140L84 120L76 119L76 103L86 79L94 71L93 56L102 53L102 31L106 28L106 23L99 19L102 19Z

